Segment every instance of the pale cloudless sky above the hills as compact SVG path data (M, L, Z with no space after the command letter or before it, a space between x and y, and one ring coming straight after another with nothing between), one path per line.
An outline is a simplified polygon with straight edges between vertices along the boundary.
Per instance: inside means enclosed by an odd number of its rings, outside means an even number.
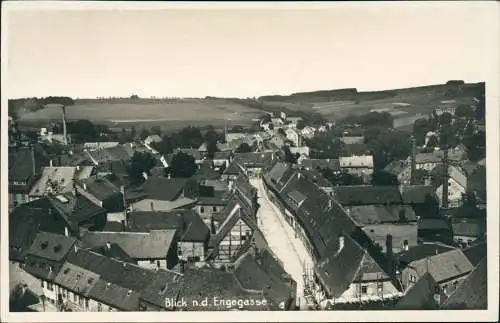
M480 82L491 72L485 48L498 21L498 7L471 2L64 8L5 14L10 98L252 97Z

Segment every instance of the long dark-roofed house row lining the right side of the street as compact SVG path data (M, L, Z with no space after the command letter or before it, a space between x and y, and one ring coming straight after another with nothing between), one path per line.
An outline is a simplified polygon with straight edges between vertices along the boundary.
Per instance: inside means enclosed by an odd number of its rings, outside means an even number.
M284 166L277 163L264 175L265 188L316 263L315 279L310 282L316 301L400 297L387 273L386 257L342 205L307 176Z

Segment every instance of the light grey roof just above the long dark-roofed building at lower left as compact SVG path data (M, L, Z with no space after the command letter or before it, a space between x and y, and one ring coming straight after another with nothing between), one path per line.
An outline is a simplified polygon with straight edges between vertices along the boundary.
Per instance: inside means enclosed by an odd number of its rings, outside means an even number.
M89 231L82 241L89 247L116 243L134 259L165 258L175 236L175 230L152 230L142 232L97 232Z

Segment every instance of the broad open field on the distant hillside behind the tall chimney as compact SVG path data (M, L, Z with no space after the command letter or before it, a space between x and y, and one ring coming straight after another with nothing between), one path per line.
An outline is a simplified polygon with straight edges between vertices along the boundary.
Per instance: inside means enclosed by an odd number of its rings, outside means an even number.
M66 107L67 120L88 119L111 127L178 127L187 125L223 126L248 124L252 118L261 115L258 110L237 103L218 99L186 99L176 101L151 100L77 100ZM49 105L45 109L21 115L24 124L42 124L61 120L61 109ZM225 121L227 120L227 121Z

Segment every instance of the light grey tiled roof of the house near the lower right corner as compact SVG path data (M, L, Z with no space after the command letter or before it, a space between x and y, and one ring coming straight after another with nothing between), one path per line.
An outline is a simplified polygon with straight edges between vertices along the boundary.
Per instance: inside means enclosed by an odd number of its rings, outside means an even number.
M428 258L415 260L410 263L410 266L416 270L419 276L429 272L438 283L463 276L473 269L472 264L460 249L453 249Z

